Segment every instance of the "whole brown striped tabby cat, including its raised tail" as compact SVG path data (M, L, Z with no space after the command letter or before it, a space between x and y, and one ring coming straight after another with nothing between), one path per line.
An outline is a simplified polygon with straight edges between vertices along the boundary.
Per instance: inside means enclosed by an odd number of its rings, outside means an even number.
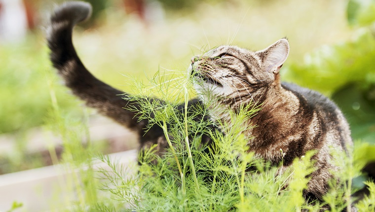
M55 9L46 36L53 67L87 106L137 132L141 149L157 144L156 153L162 155L168 147L162 129L154 125L145 132L148 120L139 121L135 111L123 108L137 106L137 102L124 100L123 95L119 96L123 92L93 76L77 56L72 43L73 28L88 19L90 13L91 5L79 1L67 2ZM332 162L338 158L330 154L331 148L350 154L347 148L353 144L349 125L328 98L280 81L279 71L288 55L289 42L282 38L261 51L224 45L194 56L188 70L198 97L190 100L188 107L205 106L207 109L209 116L195 119L230 123L228 109L260 104L262 109L244 123L257 126L243 132L249 138L249 150L272 165L282 163L280 172L295 158L315 150L315 171L304 195L306 199L322 200L328 190L328 180L332 178L331 172L338 170ZM183 108L184 105L178 106L179 110ZM221 130L216 125L208 127ZM202 144L212 145L211 138L202 135Z

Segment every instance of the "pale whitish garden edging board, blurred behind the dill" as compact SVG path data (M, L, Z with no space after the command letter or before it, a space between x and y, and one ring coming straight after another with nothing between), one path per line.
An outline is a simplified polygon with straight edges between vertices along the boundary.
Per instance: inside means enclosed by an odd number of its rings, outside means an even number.
M129 150L109 155L118 160L124 167L136 164L137 150ZM108 167L104 163L94 166ZM0 175L0 212L6 212L14 201L23 203L20 212L42 212L51 209L65 208L67 198L75 198L67 190L67 175L63 165L48 166L17 173Z

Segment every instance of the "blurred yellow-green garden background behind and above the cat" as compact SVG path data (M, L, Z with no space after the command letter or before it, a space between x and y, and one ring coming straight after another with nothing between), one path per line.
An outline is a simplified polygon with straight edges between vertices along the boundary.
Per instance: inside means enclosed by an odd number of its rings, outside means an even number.
M43 35L61 1L24 2L33 11L31 29L0 41L0 135L19 138L18 155L26 151L23 135L46 124L51 89L63 110L83 116L82 103L51 68ZM93 18L76 27L75 47L88 70L118 89L132 92L126 75L147 83L159 69L183 73L193 55L218 45L260 50L286 36L291 49L282 80L332 98L353 139L375 143L375 0L91 2Z

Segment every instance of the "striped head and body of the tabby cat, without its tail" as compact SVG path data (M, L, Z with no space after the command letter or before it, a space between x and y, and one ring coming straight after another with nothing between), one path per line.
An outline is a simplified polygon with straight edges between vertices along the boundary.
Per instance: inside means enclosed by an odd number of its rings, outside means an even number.
M280 39L262 51L220 46L191 59L190 71L201 101L210 115L230 123L228 109L255 103L262 107L243 132L250 151L273 165L291 165L309 150L317 153L305 195L321 199L327 192L330 172L338 167L330 148L345 151L352 145L349 126L338 107L318 92L281 83L279 70L289 54L289 43ZM283 154L280 153L282 150Z

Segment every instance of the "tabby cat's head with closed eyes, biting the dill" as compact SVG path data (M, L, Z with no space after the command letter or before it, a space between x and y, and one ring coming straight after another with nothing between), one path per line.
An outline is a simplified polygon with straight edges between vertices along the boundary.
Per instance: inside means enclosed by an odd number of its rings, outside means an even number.
M202 100L214 96L244 103L275 80L288 54L285 38L261 51L224 45L194 56L190 71Z

